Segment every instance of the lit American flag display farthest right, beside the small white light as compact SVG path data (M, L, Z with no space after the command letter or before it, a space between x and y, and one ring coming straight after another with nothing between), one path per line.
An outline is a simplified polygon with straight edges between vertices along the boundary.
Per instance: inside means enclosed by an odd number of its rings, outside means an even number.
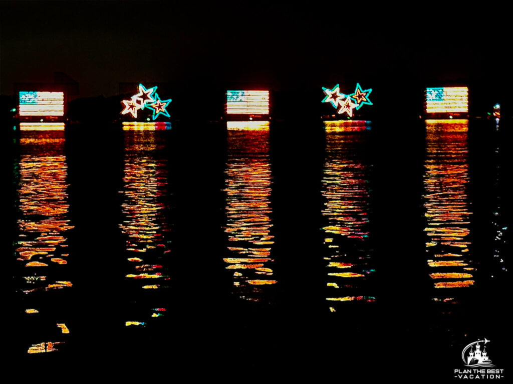
M426 113L467 113L468 88L426 88Z

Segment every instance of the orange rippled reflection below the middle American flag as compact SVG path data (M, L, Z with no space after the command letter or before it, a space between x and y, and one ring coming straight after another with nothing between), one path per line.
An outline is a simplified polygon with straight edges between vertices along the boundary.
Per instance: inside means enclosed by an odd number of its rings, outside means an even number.
M261 301L277 283L272 270L271 165L269 132L228 131L226 164L226 227L234 293Z

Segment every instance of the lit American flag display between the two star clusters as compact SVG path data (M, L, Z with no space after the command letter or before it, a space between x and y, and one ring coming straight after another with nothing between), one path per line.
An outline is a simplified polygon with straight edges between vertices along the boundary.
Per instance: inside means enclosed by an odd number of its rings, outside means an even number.
M269 91L226 91L229 115L268 115Z

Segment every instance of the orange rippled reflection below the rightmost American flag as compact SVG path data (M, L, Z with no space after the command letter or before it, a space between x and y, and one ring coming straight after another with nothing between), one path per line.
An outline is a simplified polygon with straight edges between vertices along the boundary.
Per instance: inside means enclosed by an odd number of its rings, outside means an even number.
M468 176L467 120L426 121L426 149L424 174L424 207L427 225L424 231L429 241L427 263L439 272L430 277L435 288L460 288L473 285L473 270L469 259L467 237L470 233L466 188ZM464 254L460 252L465 252ZM433 259L437 259L434 261ZM455 260L457 258L457 260ZM442 297L435 301L444 301Z

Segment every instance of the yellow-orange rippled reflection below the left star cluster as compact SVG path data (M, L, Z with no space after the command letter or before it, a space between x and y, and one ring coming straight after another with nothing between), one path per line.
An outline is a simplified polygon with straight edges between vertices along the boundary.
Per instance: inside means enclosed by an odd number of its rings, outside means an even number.
M139 313L133 316L143 316L145 320L129 318L126 325L146 325L154 313L151 307L163 307L160 302L163 294L153 291L167 288L170 279L165 261L170 252L167 236L170 227L163 134L152 131L124 133L123 222L120 228L126 239L128 273L125 278L134 297L139 297L133 300L139 307ZM144 296L141 294L143 290L146 292Z

